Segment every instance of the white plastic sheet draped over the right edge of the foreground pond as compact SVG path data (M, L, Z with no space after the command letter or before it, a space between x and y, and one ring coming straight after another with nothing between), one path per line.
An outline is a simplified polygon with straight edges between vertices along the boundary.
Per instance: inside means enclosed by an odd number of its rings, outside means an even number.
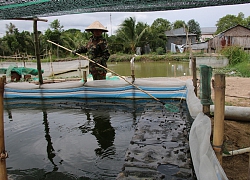
M195 119L190 130L189 145L197 179L227 180L210 144L211 120L202 113L202 105L194 93L191 79L187 80L186 86L188 109L191 117Z

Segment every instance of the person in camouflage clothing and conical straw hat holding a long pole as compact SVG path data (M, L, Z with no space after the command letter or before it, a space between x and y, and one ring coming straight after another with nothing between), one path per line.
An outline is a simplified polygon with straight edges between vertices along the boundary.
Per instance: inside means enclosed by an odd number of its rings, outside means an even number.
M80 47L75 50L74 53L86 53L89 59L107 67L110 53L107 41L102 36L102 33L108 32L108 30L99 21L95 21L89 25L85 31L92 32L92 36L86 46ZM98 64L90 62L89 72L92 74L94 80L106 79L107 70L100 67Z

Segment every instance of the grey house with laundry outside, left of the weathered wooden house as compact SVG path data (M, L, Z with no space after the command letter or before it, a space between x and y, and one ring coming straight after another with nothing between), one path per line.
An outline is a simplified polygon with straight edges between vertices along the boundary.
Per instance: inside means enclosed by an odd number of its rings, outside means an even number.
M189 41L196 42L196 34L186 33L184 28L165 31L165 35L167 36L166 52L173 50L173 45L177 48L177 46L189 44Z

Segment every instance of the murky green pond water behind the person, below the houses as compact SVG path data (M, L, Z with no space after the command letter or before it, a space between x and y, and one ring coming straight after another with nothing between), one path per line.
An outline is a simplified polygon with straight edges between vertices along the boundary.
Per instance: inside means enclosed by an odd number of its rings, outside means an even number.
M108 68L121 76L131 76L130 62L108 63ZM135 62L136 78L191 76L188 61ZM81 77L79 72L60 74L55 77Z

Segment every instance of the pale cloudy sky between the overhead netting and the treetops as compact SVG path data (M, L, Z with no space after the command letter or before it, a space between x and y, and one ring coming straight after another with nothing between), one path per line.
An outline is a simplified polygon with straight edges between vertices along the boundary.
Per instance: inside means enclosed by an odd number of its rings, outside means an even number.
M108 29L109 35L114 35L119 25L129 17L135 17L136 22L143 22L151 25L157 18L163 18L171 23L176 20L183 20L186 23L194 19L200 24L200 27L216 27L217 21L230 14L238 15L242 12L245 18L250 16L250 3L240 5L227 5L227 6L211 6L203 8L192 8L182 10L171 11L154 11L154 12L98 12L98 13L83 13L83 14L71 14L63 16L50 16L39 17L41 19L47 19L48 22L39 21L38 30L45 32L51 22L55 19L60 21L64 30L67 29L80 29L82 32L94 21L99 21L103 26ZM5 35L6 24L12 22L19 32L29 31L33 32L33 22L23 20L0 20L0 37Z

